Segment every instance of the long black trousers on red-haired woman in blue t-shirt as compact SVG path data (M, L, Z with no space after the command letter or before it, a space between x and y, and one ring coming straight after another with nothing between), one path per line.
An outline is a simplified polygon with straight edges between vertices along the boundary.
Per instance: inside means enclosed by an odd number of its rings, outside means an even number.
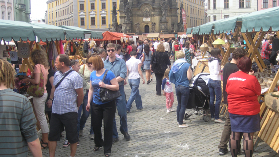
M115 100L106 104L94 104L91 108L91 124L93 124L94 142L96 147L104 147L104 153L111 152L112 146L112 126L115 118ZM102 121L104 119L104 140L102 139Z

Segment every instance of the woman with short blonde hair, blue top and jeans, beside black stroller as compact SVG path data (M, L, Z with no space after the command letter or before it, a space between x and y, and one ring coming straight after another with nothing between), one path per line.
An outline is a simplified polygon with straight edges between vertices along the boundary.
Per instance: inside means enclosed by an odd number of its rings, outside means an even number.
M177 124L179 128L186 128L188 125L183 120L186 106L189 99L189 80L192 78L192 70L190 64L184 59L185 53L183 51L177 51L175 53L177 60L171 67L169 72L169 81L175 84L175 93L177 97Z

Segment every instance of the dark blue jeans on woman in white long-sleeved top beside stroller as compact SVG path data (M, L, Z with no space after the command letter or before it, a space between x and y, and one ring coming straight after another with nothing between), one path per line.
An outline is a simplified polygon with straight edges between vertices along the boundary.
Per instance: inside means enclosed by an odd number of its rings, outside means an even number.
M209 108L211 113L211 118L219 119L219 108L222 100L222 89L221 89L221 81L212 80L209 78L208 88L210 93L210 101ZM216 96L216 102L214 107L214 100Z

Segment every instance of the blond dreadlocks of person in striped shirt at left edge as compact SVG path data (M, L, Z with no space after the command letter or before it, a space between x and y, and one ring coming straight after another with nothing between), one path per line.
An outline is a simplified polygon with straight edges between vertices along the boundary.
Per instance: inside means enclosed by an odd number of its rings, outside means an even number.
M12 64L8 61L0 59L0 85L1 83L5 83L7 88L14 88L14 76L16 71L14 70Z

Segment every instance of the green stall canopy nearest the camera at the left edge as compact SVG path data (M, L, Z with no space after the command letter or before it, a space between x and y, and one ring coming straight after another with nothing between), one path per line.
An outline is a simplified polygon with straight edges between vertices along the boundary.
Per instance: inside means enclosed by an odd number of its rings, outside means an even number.
M19 23L24 24L25 22ZM36 40L33 32L33 27L18 25L18 21L0 20L0 28L0 40L2 40L2 38L5 41L12 41L12 38L15 41L19 41L20 38L23 41L27 41L27 39L29 39L30 41Z

